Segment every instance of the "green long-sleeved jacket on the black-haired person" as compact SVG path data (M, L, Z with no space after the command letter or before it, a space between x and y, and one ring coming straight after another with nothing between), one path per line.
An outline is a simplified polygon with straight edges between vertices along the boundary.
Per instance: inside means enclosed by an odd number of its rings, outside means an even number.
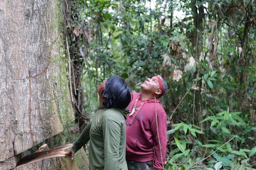
M92 123L83 129L72 150L77 152L90 139L90 169L127 169L127 113L128 110L100 108L96 111Z

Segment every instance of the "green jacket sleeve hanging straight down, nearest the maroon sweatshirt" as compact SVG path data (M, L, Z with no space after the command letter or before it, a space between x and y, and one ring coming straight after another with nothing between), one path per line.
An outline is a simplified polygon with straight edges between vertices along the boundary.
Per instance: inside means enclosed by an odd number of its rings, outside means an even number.
M119 169L119 146L121 141L121 123L106 118L103 125L104 169Z

